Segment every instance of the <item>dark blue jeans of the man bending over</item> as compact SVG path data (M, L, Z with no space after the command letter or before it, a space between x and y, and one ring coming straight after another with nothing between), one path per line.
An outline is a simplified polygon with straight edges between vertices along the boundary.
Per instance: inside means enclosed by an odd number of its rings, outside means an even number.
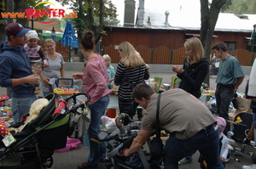
M187 155L195 154L197 150L207 161L209 169L224 169L219 157L218 127L212 128L209 132L202 129L193 137L184 140L177 139L175 133L171 133L164 150L165 168L178 169L178 161Z

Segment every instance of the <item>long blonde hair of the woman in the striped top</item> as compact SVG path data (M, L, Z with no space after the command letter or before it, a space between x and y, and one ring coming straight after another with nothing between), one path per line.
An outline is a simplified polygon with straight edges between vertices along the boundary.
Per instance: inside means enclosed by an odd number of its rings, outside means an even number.
M125 67L137 68L144 64L144 60L137 55L135 48L133 48L130 42L121 42L119 44L119 51L123 53L121 61L124 62Z

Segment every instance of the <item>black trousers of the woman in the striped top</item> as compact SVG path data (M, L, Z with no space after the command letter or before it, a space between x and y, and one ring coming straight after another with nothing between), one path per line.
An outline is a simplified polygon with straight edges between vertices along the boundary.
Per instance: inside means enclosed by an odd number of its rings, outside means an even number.
M138 104L135 100L122 100L119 99L119 112L128 114L131 119L136 114Z

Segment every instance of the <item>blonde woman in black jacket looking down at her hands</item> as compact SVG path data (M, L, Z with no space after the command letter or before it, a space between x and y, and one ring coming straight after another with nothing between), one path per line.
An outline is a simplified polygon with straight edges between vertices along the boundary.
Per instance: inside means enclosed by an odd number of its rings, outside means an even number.
M197 37L187 39L184 43L185 54L188 56L184 60L183 67L172 65L172 70L181 79L179 88L199 99L201 97L201 83L204 82L208 71L209 62L204 57L204 48ZM192 162L192 155L184 157L178 164L188 164Z

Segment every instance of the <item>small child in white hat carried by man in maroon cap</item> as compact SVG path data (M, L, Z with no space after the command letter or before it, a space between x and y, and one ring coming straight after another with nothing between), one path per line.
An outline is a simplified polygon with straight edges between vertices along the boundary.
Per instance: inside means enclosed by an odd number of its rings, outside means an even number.
M32 66L32 73L36 74L36 72L33 70L34 67L42 67L42 61L43 66L48 67L47 58L44 55L44 50L38 45L38 33L37 31L28 31L26 33L26 44L24 45L26 55L30 59L30 64ZM35 94L40 93L40 87L39 83L35 85Z

